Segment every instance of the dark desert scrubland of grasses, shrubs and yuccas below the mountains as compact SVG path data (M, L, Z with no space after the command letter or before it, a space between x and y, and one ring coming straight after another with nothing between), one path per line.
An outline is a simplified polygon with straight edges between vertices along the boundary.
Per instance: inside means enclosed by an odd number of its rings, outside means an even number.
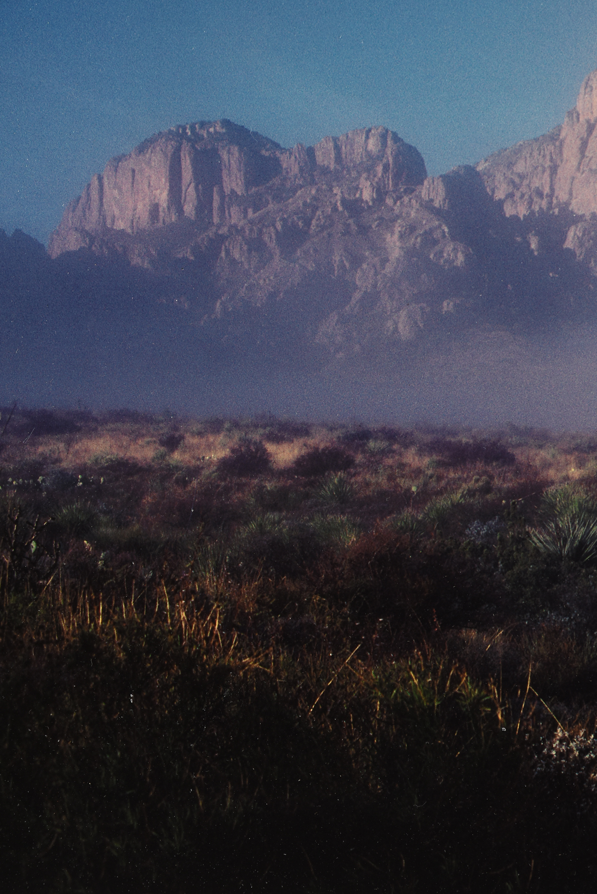
M593 890L597 438L10 412L3 890Z

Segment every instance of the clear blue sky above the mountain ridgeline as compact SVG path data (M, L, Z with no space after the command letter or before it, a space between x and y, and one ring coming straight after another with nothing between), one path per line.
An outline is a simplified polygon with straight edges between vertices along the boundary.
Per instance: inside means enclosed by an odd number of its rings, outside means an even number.
M200 120L383 124L442 173L549 131L595 68L597 0L0 0L0 227L47 242L108 158Z

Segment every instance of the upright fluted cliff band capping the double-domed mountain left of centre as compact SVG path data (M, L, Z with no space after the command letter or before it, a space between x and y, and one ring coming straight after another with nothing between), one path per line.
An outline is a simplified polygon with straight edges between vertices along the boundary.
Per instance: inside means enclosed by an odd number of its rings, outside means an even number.
M381 127L284 149L229 121L187 124L109 161L66 208L49 253L88 247L110 231L240 223L312 182L350 181L371 204L425 176L417 150Z

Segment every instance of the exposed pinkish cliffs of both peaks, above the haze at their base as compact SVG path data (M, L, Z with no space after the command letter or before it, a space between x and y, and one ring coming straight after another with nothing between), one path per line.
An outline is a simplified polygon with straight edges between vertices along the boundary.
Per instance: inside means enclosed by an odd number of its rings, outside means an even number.
M593 307L596 123L594 72L555 131L433 178L382 127L286 149L228 121L184 125L108 162L49 253L145 269L205 337L276 357L542 325Z

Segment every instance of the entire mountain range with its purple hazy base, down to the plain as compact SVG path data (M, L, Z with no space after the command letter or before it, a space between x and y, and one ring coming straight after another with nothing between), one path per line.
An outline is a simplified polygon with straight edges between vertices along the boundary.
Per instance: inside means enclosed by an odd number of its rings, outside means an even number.
M596 125L593 72L439 177L383 127L158 133L47 251L0 232L0 402L595 427Z

